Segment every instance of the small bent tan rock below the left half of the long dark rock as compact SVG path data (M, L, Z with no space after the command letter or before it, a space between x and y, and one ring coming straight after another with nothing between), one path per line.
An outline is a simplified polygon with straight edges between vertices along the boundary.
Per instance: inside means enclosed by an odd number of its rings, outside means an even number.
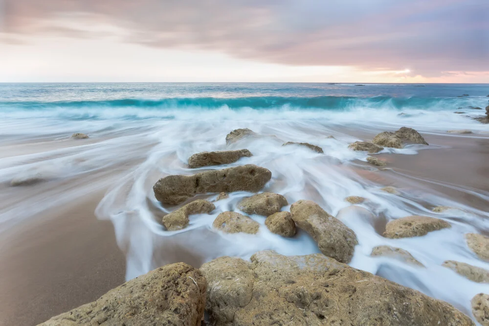
M178 210L165 215L163 217L163 225L168 231L181 230L187 227L189 215L203 213L209 214L215 208L216 206L214 206L213 203L207 200L197 199L185 206L180 207Z

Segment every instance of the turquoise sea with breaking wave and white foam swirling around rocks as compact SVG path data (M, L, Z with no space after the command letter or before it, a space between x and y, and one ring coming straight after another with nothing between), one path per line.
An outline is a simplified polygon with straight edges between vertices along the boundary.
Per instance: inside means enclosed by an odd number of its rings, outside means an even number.
M132 97L147 91L140 85L137 87L133 89ZM7 203L2 204L0 210L0 232L28 221L36 213L60 207L87 192L110 185L96 215L100 219L110 219L114 225L117 242L127 257L127 279L162 263L179 260L202 263L223 255L247 260L256 251L264 249L284 255L317 253L316 243L305 232L299 231L292 239L280 237L268 231L264 225L265 217L251 216L261 224L256 235L229 235L214 230L212 222L221 212L239 212L237 203L252 195L246 192L231 193L229 198L215 202L216 209L209 215L191 216L190 225L184 230L166 231L160 224L161 217L175 208L163 207L156 200L152 186L159 178L256 164L272 172L272 179L263 191L282 194L289 204L299 199L311 199L355 231L359 244L351 266L447 301L471 316L470 299L480 292L489 293L489 284L471 282L441 265L445 260L455 260L489 269L487 262L477 259L467 248L464 239L468 232L489 231L488 214L443 191L428 191L425 183L437 183L441 189L454 190L459 196L467 194L485 201L489 201L489 194L459 185L420 180L395 170L378 170L362 164L367 154L349 150L348 144L363 140L359 138L361 134L372 135L402 126L415 128L424 135L486 137L487 125L470 118L484 111L468 108L485 108L487 94L482 94L484 88L457 86L461 87L459 89L454 86L448 89L453 96L444 93L448 91L446 87L442 90L427 89L430 86L409 88L409 91L419 93L415 97L402 90L403 86L389 91L384 89L387 86L361 87L358 91L337 89L355 89L350 85L314 86L309 91L303 86L296 87L295 91L291 90L292 86L280 86L286 90L277 92L285 95L272 98L270 96L275 94L269 85L262 87L265 88L262 93L253 93L255 96L246 93L252 93L255 88L240 93L236 86L212 87L200 91L190 87L192 96L183 102L176 100L186 94L182 87L172 90L171 100L155 99L158 95L155 90L151 94L145 93L151 98L149 102L121 102L120 94L105 96L96 91L96 95L90 97L86 89L77 98L76 87L62 89L74 94L65 94L69 101L67 98L53 101L51 93L43 100L34 95L23 101L8 98L0 113L0 130L5 139L0 159L0 199ZM253 87L261 89L260 86ZM373 87L380 88L364 90ZM117 86L113 88L117 89ZM340 98L332 99L328 90ZM343 94L335 93L340 91ZM444 94L427 98L424 94L430 91ZM397 97L391 94L393 92L404 92L406 96ZM241 96L237 97L236 93ZM324 93L329 97L324 97ZM463 93L476 95L457 97ZM210 95L215 98L210 100ZM127 92L124 96L128 96ZM244 96L247 96L246 100L243 100ZM293 98L287 100L288 96ZM317 96L323 97L318 99ZM81 103L80 98L89 104ZM456 110L466 113L453 113ZM260 136L226 146L226 134L237 128L249 128ZM446 130L455 129L469 129L474 133L446 134ZM71 140L69 135L73 132L88 133L90 138ZM335 139L327 138L329 135ZM25 145L33 141L37 143ZM282 146L287 141L318 145L324 154L298 146ZM188 157L196 152L242 148L250 150L253 156L229 165L187 168ZM439 148L440 145L434 143L383 152L416 155L420 151ZM9 187L14 179L33 177L45 180L30 186L43 185L42 192L26 193L26 187ZM380 190L391 184L402 185L398 189L399 195ZM214 200L216 196L205 197ZM367 200L352 206L344 201L347 196L362 196ZM28 207L22 205L27 200L30 202ZM439 205L458 209L433 213L430 208ZM289 206L283 210L288 211ZM452 227L411 239L386 239L379 234L387 221L409 215L443 218ZM391 258L370 257L372 248L378 245L405 249L426 268Z

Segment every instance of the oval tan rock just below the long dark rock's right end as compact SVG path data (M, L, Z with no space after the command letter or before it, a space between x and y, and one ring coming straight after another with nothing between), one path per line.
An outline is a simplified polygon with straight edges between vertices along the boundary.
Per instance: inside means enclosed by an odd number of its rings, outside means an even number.
M262 193L244 198L238 208L246 214L269 216L280 212L283 206L289 205L287 199L279 194Z

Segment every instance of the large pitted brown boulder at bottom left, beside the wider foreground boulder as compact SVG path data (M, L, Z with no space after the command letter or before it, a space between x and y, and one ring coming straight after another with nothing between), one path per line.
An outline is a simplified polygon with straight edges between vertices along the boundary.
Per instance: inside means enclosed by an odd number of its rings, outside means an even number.
M136 277L41 325L200 326L205 293L201 272L178 262Z

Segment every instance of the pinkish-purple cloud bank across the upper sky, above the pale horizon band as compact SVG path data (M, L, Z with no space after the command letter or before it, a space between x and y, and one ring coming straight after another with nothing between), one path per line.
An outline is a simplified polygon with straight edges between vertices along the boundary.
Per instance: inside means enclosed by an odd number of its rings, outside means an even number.
M2 25L7 34L98 38L89 27L103 23L152 47L430 77L489 70L488 12L488 0L5 0ZM59 26L70 17L87 28Z

